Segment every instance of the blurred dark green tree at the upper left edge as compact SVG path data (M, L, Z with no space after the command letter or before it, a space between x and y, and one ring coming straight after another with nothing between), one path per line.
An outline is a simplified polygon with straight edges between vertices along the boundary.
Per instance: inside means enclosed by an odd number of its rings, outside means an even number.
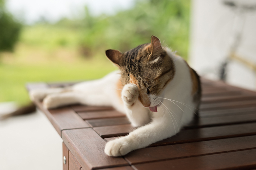
M5 0L0 0L0 51L12 51L18 41L21 23L5 9Z

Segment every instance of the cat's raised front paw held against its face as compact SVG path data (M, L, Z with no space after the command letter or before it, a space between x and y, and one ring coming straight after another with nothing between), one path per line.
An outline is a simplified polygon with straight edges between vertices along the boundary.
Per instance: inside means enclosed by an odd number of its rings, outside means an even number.
M122 99L128 105L133 105L134 102L138 99L139 92L138 86L135 84L127 84L124 86L122 91Z

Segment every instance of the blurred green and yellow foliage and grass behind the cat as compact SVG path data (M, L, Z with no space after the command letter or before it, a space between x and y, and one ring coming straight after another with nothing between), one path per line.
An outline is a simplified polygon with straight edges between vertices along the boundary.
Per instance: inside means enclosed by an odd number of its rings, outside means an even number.
M149 43L151 35L187 58L190 0L135 0L133 8L115 15L92 16L84 10L82 19L50 24L42 18L22 29L19 23L12 26L19 39L13 52L0 53L0 102L27 103L26 82L100 78L116 69L106 49L125 52ZM0 31L0 42L6 35Z

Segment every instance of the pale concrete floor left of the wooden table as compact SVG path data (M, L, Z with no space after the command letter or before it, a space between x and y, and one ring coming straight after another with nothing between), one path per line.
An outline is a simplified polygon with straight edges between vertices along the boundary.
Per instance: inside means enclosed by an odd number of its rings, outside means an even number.
M0 103L0 114L15 108ZM62 139L39 111L0 121L0 170L17 169L62 169Z

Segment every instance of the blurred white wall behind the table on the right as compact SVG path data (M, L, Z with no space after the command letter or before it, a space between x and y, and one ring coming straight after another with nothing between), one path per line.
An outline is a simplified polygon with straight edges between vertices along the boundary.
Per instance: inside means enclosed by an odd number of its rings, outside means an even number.
M240 2L246 0L240 0ZM248 1L256 4L256 1ZM256 11L245 14L243 37L237 54L256 64ZM192 0L190 64L202 76L217 79L221 62L229 53L236 14L222 0ZM227 82L256 90L256 74L232 61Z

